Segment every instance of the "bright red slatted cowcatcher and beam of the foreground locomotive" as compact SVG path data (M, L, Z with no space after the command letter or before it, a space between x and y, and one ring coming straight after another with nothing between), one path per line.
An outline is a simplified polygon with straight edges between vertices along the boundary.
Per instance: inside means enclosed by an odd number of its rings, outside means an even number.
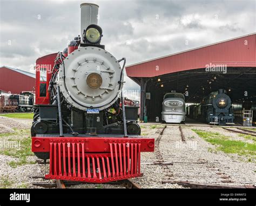
M46 179L103 183L139 177L140 153L153 150L154 139L147 138L32 138L32 152L50 153Z

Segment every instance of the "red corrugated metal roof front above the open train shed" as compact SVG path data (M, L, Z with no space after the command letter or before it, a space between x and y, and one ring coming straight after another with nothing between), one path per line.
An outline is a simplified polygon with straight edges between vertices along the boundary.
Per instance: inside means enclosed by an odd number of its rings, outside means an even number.
M256 67L256 33L126 66L128 77L156 77L207 64L227 67Z

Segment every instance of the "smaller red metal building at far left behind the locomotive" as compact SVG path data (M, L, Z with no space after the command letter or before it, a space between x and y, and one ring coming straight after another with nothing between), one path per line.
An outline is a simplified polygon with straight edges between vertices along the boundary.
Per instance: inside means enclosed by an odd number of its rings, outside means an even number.
M11 68L0 67L0 90L12 94L20 94L22 91L33 91L35 88L36 74Z

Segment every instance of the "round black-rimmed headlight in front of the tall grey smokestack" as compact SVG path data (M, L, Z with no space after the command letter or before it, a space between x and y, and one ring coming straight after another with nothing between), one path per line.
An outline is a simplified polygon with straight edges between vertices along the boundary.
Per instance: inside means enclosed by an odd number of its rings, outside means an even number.
M91 24L87 27L85 31L85 41L96 44L100 42L102 37L102 29L95 24Z

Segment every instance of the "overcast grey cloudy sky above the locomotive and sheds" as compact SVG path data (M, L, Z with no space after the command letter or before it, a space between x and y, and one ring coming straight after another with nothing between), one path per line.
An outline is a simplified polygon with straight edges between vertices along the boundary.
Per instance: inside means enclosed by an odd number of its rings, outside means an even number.
M3 1L0 66L30 71L80 33L80 3L99 5L102 44L127 64L256 31L256 1ZM126 89L138 89L127 81Z

